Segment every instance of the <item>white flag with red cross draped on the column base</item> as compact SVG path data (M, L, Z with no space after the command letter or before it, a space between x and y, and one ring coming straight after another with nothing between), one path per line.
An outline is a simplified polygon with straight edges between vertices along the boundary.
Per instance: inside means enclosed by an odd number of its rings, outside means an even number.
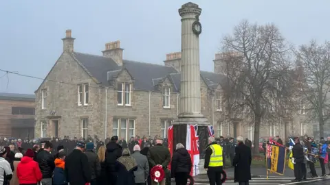
M197 136L197 125L187 125L186 149L190 154L192 170L191 176L199 174L199 138Z

